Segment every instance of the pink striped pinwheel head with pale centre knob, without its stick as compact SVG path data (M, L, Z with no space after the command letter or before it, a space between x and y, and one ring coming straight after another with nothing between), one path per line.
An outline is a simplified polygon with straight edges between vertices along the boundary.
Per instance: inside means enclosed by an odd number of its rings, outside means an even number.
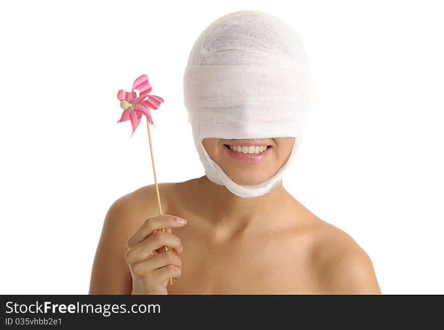
M131 120L131 125L133 126L131 137L139 125L143 114L148 118L149 123L154 125L149 109L158 109L163 99L155 95L148 95L151 89L148 76L142 75L134 81L131 92L121 89L117 93L117 98L121 101L120 107L124 109L122 117L117 122ZM139 96L137 96L134 90L139 91Z

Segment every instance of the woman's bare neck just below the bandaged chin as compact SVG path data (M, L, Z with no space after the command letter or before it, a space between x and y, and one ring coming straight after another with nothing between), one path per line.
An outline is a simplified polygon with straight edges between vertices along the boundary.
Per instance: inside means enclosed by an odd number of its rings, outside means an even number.
M247 228L250 224L275 223L283 204L293 199L291 194L279 184L267 193L256 197L239 197L226 186L218 185L204 175L197 179L202 192L199 212L213 225L230 231Z

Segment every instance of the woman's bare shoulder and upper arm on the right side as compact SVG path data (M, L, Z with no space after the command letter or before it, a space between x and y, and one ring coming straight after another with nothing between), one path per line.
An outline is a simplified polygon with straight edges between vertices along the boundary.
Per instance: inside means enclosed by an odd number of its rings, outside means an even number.
M320 219L319 219L320 220ZM369 255L345 231L316 222L311 261L327 294L380 294Z

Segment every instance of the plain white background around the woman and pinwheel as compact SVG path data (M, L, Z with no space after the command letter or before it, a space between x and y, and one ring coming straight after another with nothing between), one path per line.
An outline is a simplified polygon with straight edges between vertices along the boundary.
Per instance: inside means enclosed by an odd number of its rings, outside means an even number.
M174 4L174 5L173 5ZM385 294L444 294L442 8L431 1L8 2L0 12L1 294L85 294L104 216L154 183L146 122L117 124L148 74L159 182L203 175L182 79L199 34L255 9L310 57L314 106L286 188L370 255ZM155 198L153 196L153 198Z

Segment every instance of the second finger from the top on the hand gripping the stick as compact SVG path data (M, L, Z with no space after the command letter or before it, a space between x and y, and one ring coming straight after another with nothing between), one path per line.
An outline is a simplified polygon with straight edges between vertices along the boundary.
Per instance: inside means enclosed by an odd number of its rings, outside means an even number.
M142 242L129 247L125 258L130 265L134 265L137 262L150 258L154 254L154 250L162 246L172 247L178 253L182 252L182 243L178 236L157 230Z

